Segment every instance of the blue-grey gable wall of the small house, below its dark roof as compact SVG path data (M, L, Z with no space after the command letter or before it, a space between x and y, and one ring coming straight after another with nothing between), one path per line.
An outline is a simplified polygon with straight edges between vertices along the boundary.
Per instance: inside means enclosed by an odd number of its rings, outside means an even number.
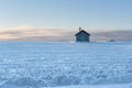
M77 42L89 42L89 35L81 32L76 36Z

